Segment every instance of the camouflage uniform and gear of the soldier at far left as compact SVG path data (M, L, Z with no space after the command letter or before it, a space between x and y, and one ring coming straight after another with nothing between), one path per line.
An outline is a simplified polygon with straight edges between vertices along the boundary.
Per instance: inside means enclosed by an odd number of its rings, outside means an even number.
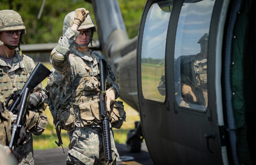
M22 54L20 56L19 52L15 51L12 65L5 62L0 56L0 88L4 93L4 98L6 100L9 93L18 92L21 90L25 84L27 78L34 69L34 61ZM19 73L19 74L17 74ZM3 78L6 76L7 78ZM12 87L12 88L9 88ZM42 85L39 84L33 92L40 92L42 90ZM44 99L46 95L41 94L42 101L39 103L37 108L31 109L26 112L26 123L25 128L27 131L27 139L23 145L17 147L17 152L20 154L20 164L34 164L33 157L33 140L32 134L40 135L44 131L48 120L47 116L44 113Z

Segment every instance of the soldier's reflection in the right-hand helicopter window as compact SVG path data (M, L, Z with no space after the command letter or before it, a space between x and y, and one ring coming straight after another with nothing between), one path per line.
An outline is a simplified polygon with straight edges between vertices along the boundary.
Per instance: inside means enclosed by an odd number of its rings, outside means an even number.
M208 34L204 34L199 41L201 50L196 55L180 56L181 94L183 101L180 105L191 107L192 104L208 106L207 86L207 54Z

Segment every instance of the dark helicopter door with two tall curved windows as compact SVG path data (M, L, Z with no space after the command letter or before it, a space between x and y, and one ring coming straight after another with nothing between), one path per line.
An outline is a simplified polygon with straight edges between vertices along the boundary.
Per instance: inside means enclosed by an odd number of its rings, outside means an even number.
M215 50L210 36L217 33L217 28L210 31L217 18L213 13L220 12L219 7L214 11L215 3L149 0L145 6L138 37L138 94L145 141L157 164L223 163L215 52L209 51Z

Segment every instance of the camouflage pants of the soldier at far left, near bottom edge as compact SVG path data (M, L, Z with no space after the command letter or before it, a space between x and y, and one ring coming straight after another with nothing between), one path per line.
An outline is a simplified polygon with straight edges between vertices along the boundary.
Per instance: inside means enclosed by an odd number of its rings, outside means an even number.
M20 155L19 165L34 165L34 156L33 156L33 139L32 134L27 133L26 143L17 146L16 151Z

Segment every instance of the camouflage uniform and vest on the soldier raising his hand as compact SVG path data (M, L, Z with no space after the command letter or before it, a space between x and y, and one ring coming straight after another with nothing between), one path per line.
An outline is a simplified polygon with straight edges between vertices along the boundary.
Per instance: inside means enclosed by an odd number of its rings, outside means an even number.
M98 164L103 161L105 155L102 148L103 140L100 126L99 80L96 74L99 73L99 59L105 60L105 57L92 50L85 53L76 50L74 43L78 34L78 31L68 28L65 35L60 38L59 45L51 52L51 60L56 54L58 57L63 56L63 58L60 58L61 62L52 61L54 81L48 80L48 84L51 84L51 88L47 90L49 92L48 103L53 102L52 113L54 110L60 113L59 118L62 123L66 123L65 126L72 125L69 127L70 151L67 163ZM88 72L93 75L82 76ZM74 84L77 84L75 88ZM117 98L119 86L115 83L115 75L107 63L107 89L111 86L116 89L115 98ZM61 103L60 110L58 109L60 107L58 100ZM58 103L56 103L57 101ZM113 158L119 157L113 137L111 143Z

